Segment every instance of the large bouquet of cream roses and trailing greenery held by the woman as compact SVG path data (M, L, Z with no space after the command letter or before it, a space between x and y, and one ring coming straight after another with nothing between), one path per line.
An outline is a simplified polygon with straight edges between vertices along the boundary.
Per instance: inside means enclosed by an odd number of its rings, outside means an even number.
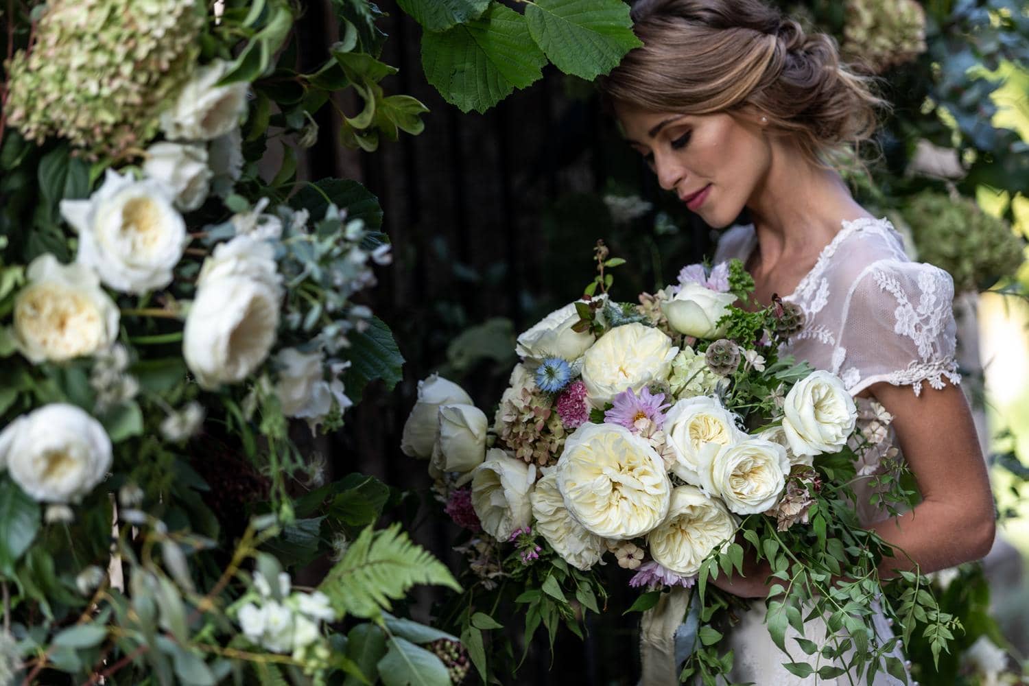
M599 612L606 597L597 567L613 558L646 589L631 609L653 607L670 587L695 589L683 676L713 679L732 665L718 644L739 601L708 581L742 574L750 557L772 570L768 626L787 669L839 676L833 659L846 653L851 666L902 675L888 655L900 639L873 627L876 566L890 549L860 528L851 488L870 471L862 457L889 449L888 413L859 411L840 378L778 356L803 313L778 299L741 306L753 281L739 260L686 266L637 304L608 292L624 260L602 244L596 260L580 300L519 336L521 362L492 422L451 382L419 387L401 447L429 460L446 512L469 531L459 549L477 577L445 625L483 646L482 631L501 625L484 610L510 601L524 608L527 642L541 621L552 642L559 619L581 635L580 613ZM912 495L892 456L885 472L860 474L887 508ZM917 617L942 645L951 618L924 588L904 599L888 610L904 637ZM809 612L828 617L822 644L804 637ZM797 645L825 665L787 657Z

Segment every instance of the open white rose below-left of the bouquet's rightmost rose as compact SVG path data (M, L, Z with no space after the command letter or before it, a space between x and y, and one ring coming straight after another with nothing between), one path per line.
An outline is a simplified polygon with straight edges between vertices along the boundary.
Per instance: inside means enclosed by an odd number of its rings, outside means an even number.
M757 514L774 506L786 486L786 448L764 438L750 438L722 448L701 474L708 493L737 514Z

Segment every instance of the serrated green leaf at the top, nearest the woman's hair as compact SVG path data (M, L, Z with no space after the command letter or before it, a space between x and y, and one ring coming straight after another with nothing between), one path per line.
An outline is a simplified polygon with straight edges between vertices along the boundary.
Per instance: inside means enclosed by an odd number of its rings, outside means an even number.
M533 40L561 71L592 81L643 43L622 0L535 0L525 9Z

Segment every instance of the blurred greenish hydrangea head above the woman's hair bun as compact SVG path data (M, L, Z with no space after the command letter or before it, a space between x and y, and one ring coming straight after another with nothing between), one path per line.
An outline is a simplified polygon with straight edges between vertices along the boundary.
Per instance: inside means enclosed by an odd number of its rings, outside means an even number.
M925 51L925 11L915 0L849 0L843 52L875 73Z

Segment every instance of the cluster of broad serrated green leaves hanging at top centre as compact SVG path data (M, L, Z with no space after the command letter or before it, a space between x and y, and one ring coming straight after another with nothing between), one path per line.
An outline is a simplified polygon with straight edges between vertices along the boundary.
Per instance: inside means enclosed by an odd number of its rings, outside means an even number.
M429 83L463 112L485 112L553 63L593 80L640 44L623 0L399 0L422 25Z

